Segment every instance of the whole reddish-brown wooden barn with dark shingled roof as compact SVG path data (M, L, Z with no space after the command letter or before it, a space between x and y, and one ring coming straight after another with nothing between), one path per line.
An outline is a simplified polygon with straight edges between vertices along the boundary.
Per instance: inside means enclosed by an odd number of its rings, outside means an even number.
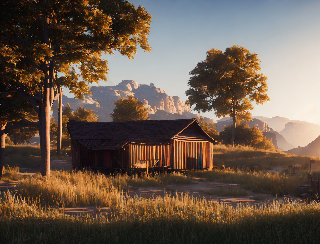
M72 164L102 171L182 171L213 167L212 139L196 119L69 120Z

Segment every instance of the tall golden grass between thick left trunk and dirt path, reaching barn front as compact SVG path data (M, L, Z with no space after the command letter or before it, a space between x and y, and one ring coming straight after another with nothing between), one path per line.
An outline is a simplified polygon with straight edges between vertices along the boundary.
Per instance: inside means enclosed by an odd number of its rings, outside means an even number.
M155 186L168 183L192 183L192 177L175 174L105 176L101 173L85 171L51 171L51 177L39 175L24 176L16 189L20 196L42 199L51 206L74 207L97 205L110 207L129 186Z

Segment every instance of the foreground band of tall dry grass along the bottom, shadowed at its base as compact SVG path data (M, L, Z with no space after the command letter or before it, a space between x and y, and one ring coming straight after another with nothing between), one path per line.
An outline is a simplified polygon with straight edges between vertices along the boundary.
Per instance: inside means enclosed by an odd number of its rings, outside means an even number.
M320 206L230 207L189 194L119 195L110 216L66 217L39 200L0 196L2 243L318 243ZM50 222L45 224L46 222Z

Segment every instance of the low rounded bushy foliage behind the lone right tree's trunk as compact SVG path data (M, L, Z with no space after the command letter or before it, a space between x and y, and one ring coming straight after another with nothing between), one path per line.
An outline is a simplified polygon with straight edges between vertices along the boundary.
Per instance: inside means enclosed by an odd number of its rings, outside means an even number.
M228 126L221 131L219 137L223 144L230 144L232 126ZM266 150L275 149L273 143L262 134L259 128L250 128L246 123L238 123L235 138L236 145L246 145Z

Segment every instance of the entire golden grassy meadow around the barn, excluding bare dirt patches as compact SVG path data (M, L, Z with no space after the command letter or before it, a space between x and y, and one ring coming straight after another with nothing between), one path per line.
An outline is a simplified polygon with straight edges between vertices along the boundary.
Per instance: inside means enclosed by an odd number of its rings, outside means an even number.
M10 148L14 152L14 147ZM287 165L308 157L250 147L216 146L215 162ZM36 154L19 147L19 156ZM32 151L34 150L34 151ZM7 150L9 153L9 151ZM240 157L240 155L242 155ZM259 156L260 155L260 156ZM265 157L262 157L265 155ZM10 157L6 157L8 159ZM284 160L284 161L283 161ZM232 162L232 163L231 163ZM259 164L259 162L261 164ZM19 165L19 164L18 164ZM240 165L240 163L235 164ZM131 197L130 188L193 184L195 179L237 183L244 189L277 196L293 194L307 183L307 170L296 175L265 171L200 170L188 174L103 175L92 171L52 171L51 177L19 175L7 166L7 181L19 180L15 191L0 195L0 243L318 243L320 205L278 199L276 203L228 206L192 194ZM3 179L0 179L3 180ZM171 191L168 187L167 191ZM221 188L205 193L246 196L243 189ZM64 215L59 207L95 206L96 215ZM100 207L109 207L108 213Z

